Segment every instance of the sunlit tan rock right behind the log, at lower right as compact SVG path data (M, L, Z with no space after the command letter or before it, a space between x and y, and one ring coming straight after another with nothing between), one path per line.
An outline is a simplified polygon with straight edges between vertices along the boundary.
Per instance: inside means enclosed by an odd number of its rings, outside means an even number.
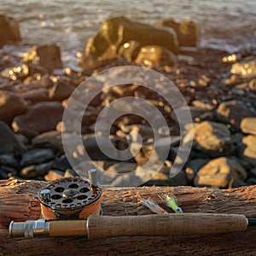
M227 188L233 180L245 181L247 172L235 160L220 157L210 160L206 166L201 167L195 177L195 186L212 186Z

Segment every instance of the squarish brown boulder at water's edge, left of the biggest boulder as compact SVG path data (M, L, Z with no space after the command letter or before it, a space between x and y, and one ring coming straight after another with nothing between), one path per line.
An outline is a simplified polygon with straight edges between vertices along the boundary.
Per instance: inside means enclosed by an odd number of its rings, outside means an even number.
M28 65L44 67L50 73L62 67L61 49L55 44L35 45L26 53L23 61Z

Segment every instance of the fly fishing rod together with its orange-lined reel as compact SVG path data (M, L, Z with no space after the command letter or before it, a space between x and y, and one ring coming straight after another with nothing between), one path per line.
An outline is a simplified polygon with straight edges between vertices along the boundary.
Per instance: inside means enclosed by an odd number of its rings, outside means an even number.
M101 216L102 188L96 169L83 177L63 177L38 191L41 217L9 224L11 237L196 236L247 230L256 218L242 214L167 213L143 216ZM176 212L182 212L176 211Z

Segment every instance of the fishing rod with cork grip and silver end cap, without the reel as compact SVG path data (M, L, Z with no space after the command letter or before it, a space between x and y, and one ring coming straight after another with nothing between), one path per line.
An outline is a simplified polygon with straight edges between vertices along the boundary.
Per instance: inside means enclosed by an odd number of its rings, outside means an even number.
M96 216L77 220L12 222L11 237L87 236L89 240L115 236L197 236L245 231L256 219L242 214L183 213L143 216Z

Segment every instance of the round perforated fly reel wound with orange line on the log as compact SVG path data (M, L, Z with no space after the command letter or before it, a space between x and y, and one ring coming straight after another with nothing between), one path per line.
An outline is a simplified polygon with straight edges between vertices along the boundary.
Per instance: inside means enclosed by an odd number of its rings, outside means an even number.
M62 177L38 192L42 218L88 218L101 214L102 188L82 177Z

